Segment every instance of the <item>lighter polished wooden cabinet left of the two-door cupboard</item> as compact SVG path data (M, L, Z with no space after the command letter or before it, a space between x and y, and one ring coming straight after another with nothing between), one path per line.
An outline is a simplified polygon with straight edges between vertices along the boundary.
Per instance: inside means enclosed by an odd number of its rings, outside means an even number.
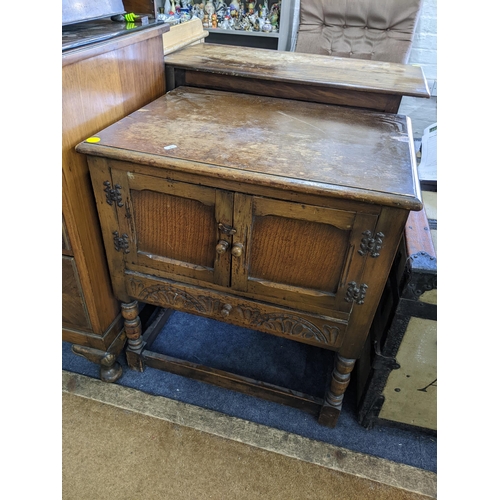
M66 51L63 44L62 339L99 363L103 380L120 376L116 356L126 337L87 162L75 146L165 93L162 35L168 29L151 25Z

